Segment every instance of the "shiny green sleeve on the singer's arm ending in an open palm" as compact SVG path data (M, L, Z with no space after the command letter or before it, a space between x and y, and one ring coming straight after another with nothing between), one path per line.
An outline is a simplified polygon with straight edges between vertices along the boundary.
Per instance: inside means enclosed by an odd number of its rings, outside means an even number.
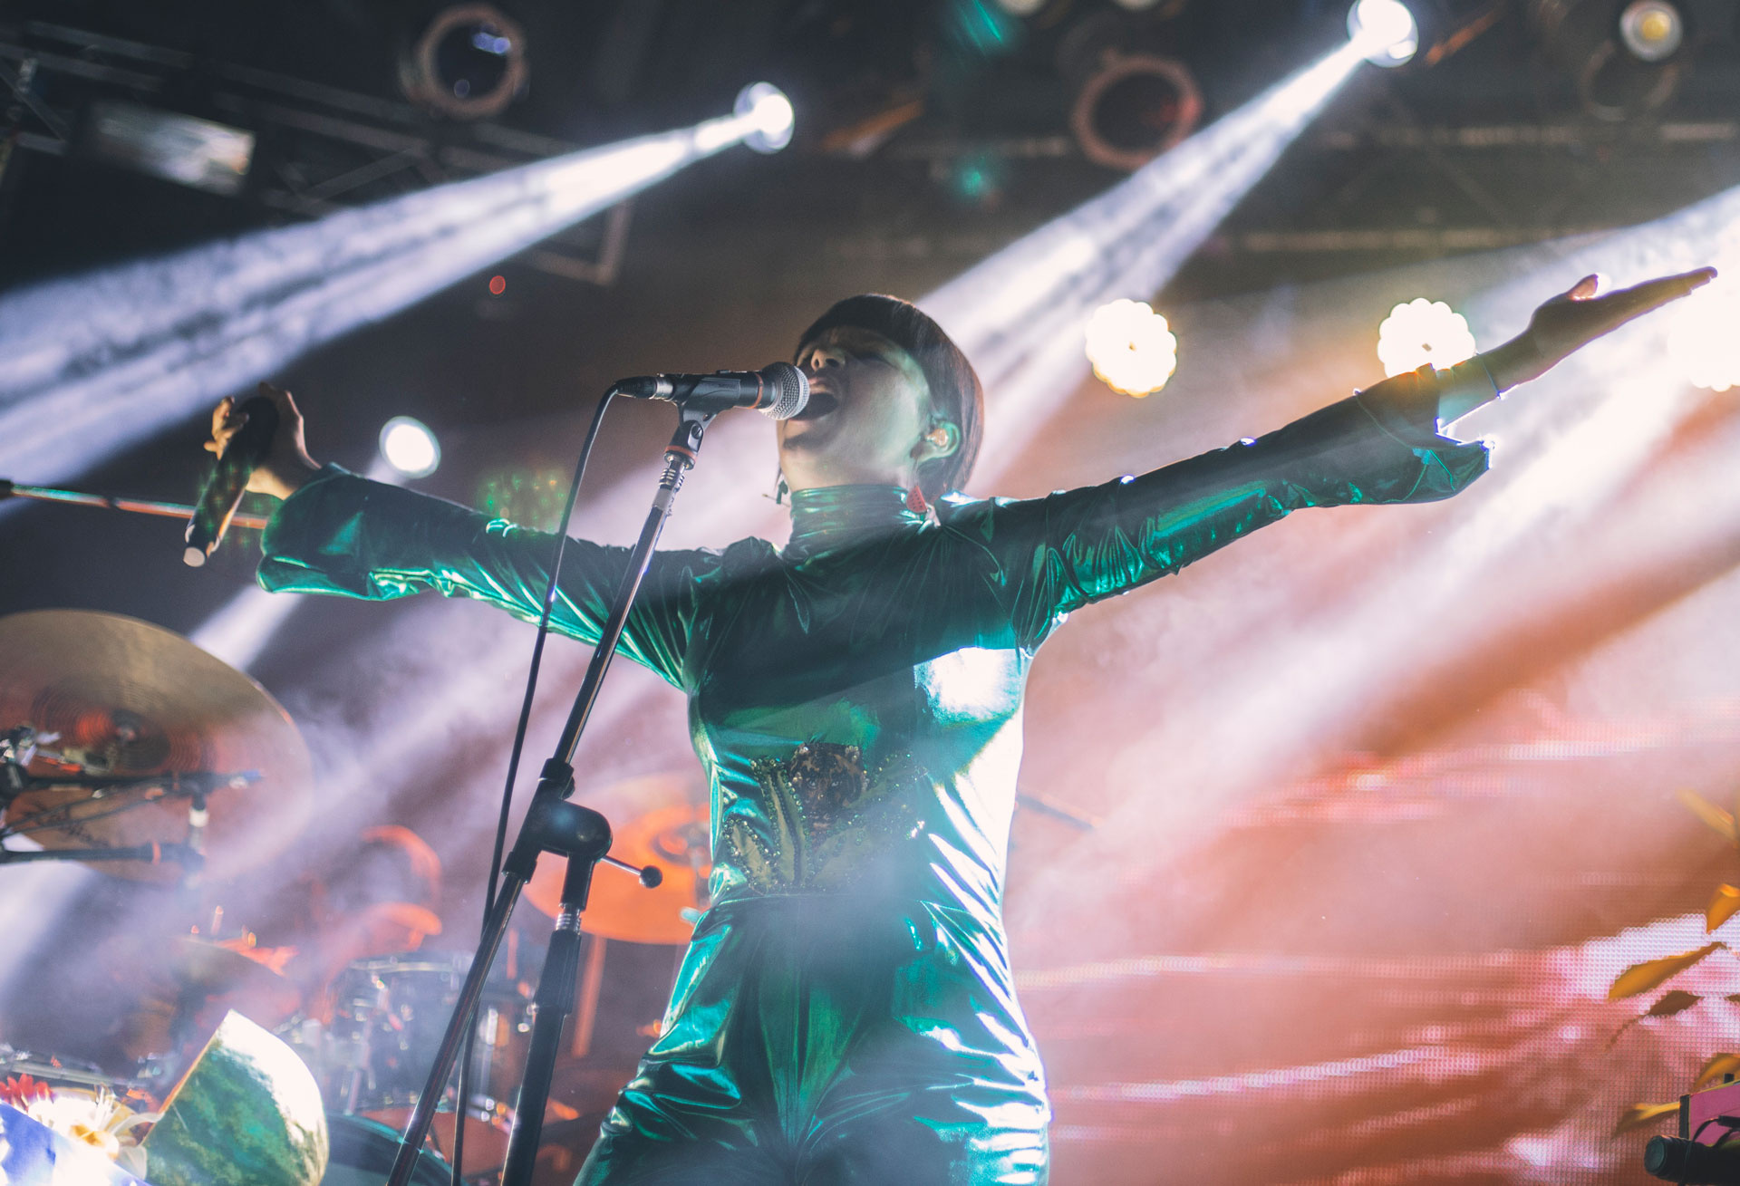
M1018 636L1037 647L1082 605L1183 569L1305 506L1430 503L1486 473L1486 445L1437 435L1437 391L1404 374L1188 461L948 520L987 548Z

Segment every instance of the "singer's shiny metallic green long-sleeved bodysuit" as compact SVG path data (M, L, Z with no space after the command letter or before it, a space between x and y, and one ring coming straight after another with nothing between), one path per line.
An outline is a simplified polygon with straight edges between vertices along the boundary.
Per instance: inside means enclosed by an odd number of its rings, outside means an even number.
M1415 377L1255 442L1030 501L802 490L783 551L654 556L623 652L689 697L713 908L581 1183L1044 1183L1049 1108L1000 918L1041 642L1302 506L1455 494L1479 443ZM536 619L550 537L332 470L266 529L268 590L473 596ZM626 550L576 541L595 640Z

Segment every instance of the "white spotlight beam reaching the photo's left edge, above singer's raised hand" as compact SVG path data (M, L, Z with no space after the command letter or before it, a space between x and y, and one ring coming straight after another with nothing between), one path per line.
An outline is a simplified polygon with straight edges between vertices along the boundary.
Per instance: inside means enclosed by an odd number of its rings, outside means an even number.
M0 470L64 480L764 125L706 120L0 297Z

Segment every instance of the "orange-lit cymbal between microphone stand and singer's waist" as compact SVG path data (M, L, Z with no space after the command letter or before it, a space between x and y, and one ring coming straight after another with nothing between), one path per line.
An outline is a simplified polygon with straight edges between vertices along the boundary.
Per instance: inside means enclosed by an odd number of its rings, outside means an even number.
M637 779L616 788L635 791L646 784L646 798L680 786L682 781ZM612 795L612 798L623 798ZM592 894L579 925L588 934L630 943L687 943L694 923L684 909L699 909L712 873L708 854L706 807L677 803L635 816L611 828L611 856L630 864L656 864L665 875L658 889L646 889L633 876L599 866L592 876ZM525 899L552 918L562 908L562 878L567 861L545 856L525 887Z

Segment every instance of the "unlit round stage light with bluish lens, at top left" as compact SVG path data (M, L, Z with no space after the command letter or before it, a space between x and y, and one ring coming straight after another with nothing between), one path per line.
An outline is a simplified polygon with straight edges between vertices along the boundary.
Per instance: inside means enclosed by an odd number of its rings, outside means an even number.
M491 3L437 12L398 63L407 99L461 120L501 115L527 73L525 33Z

